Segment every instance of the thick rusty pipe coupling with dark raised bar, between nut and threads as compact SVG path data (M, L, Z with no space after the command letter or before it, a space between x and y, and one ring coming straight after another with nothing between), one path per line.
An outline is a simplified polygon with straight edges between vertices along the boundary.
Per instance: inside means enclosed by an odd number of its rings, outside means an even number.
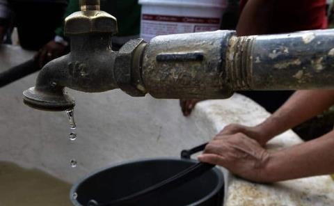
M143 54L145 90L157 98L227 98L225 54L232 31L162 35Z

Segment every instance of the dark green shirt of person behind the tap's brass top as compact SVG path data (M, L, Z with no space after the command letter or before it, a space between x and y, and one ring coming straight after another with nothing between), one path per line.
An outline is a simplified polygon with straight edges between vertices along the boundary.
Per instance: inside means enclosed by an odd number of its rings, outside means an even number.
M141 6L138 4L138 0L101 0L101 10L117 18L117 36L138 35L140 33ZM79 1L70 0L65 17L77 11L79 11ZM64 35L64 25L56 29L56 34Z

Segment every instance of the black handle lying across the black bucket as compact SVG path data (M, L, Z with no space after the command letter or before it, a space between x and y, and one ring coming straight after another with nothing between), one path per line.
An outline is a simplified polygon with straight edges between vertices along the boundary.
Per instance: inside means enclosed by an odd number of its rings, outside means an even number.
M191 150L182 150L181 158L190 159L192 154L195 154L196 152L200 152L204 150L206 145L207 143L199 145L196 148L192 148ZM213 164L199 162L189 168L186 168L184 171L177 173L177 175L174 175L173 177L170 177L157 184L154 184L153 186L148 187L147 189L143 189L142 191L133 193L132 195L113 200L110 203L100 203L99 204L95 200L90 200L87 203L87 206L125 206L129 204L133 204L133 203L136 203L138 200L141 200L142 198L147 198L148 196L152 196L157 193L161 193L161 191L168 191L175 187L180 187L182 184L185 184L186 182L189 182L193 180L194 178L199 177L200 175L203 175L207 171L214 168L214 166L215 165Z

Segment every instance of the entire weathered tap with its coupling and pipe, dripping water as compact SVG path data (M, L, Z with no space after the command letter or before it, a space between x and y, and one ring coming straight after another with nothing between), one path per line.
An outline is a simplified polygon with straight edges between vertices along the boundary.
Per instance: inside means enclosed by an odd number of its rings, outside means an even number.
M334 30L237 37L234 31L161 35L130 40L113 52L116 18L99 0L81 0L65 19L71 52L51 61L24 103L64 111L74 100L65 88L98 93L120 88L141 97L230 97L237 90L334 88Z

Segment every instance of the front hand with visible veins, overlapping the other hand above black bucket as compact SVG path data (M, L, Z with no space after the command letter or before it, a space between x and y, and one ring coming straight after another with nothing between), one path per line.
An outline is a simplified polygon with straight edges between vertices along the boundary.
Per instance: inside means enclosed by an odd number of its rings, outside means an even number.
M253 182L270 182L266 174L269 152L245 134L219 136L211 141L198 160L216 164Z

